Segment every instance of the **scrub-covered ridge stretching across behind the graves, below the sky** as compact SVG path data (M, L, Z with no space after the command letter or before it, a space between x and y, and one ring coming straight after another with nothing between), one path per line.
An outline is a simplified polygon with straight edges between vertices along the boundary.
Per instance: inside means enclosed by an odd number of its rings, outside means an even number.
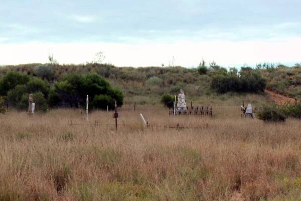
M178 94L180 89L184 89L188 97L195 98L204 94L210 95L215 91L219 93L227 91L257 92L266 86L266 88L284 95L301 98L300 65L287 67L280 64L262 64L255 69L248 67L242 67L240 71L234 68L227 69L217 65L214 61L208 65L202 61L198 68L181 66L116 67L105 63L68 65L32 63L1 67L0 78L6 72L13 70L29 76L40 77L53 85L54 82L63 80L66 74L97 73L109 80L113 86L121 88L127 96L125 99L127 103L137 101L138 104L155 104L160 101L163 94ZM264 81L262 77L267 81Z

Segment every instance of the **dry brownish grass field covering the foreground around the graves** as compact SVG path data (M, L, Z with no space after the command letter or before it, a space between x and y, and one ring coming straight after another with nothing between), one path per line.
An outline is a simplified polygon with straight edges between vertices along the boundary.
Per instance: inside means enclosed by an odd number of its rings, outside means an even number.
M300 122L214 111L124 109L117 131L106 111L0 115L0 200L300 200Z

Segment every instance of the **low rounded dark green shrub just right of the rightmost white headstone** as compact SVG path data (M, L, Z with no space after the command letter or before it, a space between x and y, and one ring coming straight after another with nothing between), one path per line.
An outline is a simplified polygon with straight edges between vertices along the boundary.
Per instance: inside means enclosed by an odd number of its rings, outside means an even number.
M261 111L257 113L257 118L264 120L264 121L270 121L270 122L280 122L285 121L285 115L281 112L280 109L277 107L263 107Z

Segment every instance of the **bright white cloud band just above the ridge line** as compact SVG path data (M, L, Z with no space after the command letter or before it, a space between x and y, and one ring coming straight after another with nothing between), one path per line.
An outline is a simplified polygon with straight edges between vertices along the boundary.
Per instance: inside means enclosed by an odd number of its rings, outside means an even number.
M174 43L143 41L129 43L41 43L0 44L0 64L48 62L49 49L59 63L92 61L96 52L104 52L104 62L117 66L160 66L175 64L197 66L202 58L222 66L240 66L257 62L300 62L301 37L248 41L189 41Z

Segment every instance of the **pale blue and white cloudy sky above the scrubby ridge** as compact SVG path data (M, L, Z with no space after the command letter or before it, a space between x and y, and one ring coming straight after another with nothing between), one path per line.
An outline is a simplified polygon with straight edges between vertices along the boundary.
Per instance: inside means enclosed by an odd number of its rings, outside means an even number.
M300 0L0 0L0 64L301 61Z

